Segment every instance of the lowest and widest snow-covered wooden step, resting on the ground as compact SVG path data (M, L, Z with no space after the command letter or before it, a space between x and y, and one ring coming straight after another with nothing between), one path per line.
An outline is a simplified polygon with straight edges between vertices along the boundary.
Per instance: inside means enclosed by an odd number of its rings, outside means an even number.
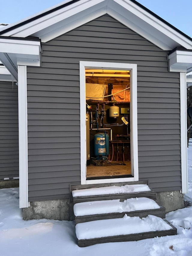
M79 247L177 234L177 229L168 221L153 215L142 219L125 215L123 218L79 223L75 228Z

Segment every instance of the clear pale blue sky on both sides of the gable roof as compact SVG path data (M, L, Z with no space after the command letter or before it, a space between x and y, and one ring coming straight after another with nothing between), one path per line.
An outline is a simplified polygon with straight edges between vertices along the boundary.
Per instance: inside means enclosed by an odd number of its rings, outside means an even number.
M0 23L13 23L52 7L61 0L0 0ZM138 0L149 10L192 37L192 0Z

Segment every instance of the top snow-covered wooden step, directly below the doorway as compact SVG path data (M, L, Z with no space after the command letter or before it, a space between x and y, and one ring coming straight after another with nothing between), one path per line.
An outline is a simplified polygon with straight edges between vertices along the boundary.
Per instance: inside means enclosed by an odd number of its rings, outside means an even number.
M73 203L127 199L132 197L148 197L156 200L156 192L152 191L147 184L125 184L113 186L98 186L93 188L72 189Z

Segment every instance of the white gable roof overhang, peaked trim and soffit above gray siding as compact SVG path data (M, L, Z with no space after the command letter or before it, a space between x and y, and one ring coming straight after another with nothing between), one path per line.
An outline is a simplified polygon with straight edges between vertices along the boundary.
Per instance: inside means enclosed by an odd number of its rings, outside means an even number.
M130 0L77 1L3 35L36 36L45 43L104 14L109 14L163 50L179 46L192 49L189 38Z

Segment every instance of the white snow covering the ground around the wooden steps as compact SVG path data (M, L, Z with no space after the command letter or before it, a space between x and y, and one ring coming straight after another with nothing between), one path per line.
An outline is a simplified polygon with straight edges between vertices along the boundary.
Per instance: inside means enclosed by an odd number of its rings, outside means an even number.
M188 149L189 193L192 202L192 140ZM0 256L191 256L192 206L166 215L177 235L80 248L73 221L22 220L19 189L0 189Z

